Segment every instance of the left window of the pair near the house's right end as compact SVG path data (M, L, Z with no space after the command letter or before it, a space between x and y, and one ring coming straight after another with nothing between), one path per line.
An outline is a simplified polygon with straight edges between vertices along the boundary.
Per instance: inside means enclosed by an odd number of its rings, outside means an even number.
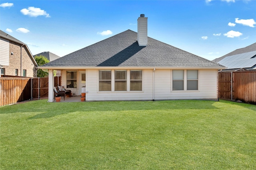
M184 70L172 70L172 90L184 90Z

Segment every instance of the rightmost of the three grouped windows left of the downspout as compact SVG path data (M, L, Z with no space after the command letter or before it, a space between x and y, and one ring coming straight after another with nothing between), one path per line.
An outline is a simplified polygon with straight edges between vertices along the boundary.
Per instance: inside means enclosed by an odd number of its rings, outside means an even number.
M130 71L130 90L131 91L142 90L142 70Z

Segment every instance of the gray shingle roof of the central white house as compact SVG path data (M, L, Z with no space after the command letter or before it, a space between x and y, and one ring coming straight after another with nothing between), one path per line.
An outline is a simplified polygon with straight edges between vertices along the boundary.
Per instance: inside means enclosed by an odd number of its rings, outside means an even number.
M147 46L139 46L137 33L129 29L43 65L47 66L222 67L150 37Z

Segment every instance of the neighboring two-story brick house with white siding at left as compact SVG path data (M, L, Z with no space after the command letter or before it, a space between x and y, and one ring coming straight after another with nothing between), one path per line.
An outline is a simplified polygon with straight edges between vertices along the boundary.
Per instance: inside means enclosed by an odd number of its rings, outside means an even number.
M1 74L8 76L36 77L37 63L28 46L0 30Z

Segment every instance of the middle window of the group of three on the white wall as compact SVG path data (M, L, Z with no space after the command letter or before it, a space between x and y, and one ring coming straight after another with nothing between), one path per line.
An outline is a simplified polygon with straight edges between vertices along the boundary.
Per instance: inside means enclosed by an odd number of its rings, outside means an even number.
M127 88L127 71L115 70L115 91L126 91Z

